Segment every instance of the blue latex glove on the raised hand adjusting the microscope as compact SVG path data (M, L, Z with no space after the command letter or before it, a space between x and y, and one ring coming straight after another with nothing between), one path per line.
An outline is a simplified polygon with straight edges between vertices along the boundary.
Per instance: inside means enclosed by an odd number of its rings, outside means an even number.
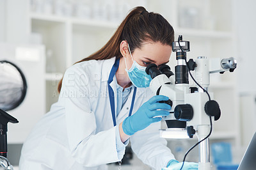
M167 116L170 114L168 111L157 111L157 109L170 110L171 106L164 103L158 103L161 100L168 100L168 97L163 95L157 95L148 102L141 105L137 112L125 118L123 121L122 128L127 135L133 135L138 130L143 130L148 127L151 123L161 121L161 117L154 118L154 116Z

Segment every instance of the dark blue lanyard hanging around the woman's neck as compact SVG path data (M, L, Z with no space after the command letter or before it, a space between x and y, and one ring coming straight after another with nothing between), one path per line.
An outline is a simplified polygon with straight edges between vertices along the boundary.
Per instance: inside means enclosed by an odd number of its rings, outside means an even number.
M115 94L114 94L113 89L110 86L110 83L113 81L113 77L114 77L114 75L115 75L115 73L116 73L116 71L118 69L119 61L120 61L119 58L116 59L113 67L111 68L111 72L110 72L109 77L108 77L108 94L109 94L109 101L110 101L110 107L111 107L112 119L113 119L114 127L116 126ZM135 99L135 95L136 95L136 90L137 90L137 88L134 87L134 91L133 91L133 95L132 95L131 109L130 109L130 112L129 112L129 116L131 116L131 114L132 114L132 109L133 109L133 105L134 105L134 99Z

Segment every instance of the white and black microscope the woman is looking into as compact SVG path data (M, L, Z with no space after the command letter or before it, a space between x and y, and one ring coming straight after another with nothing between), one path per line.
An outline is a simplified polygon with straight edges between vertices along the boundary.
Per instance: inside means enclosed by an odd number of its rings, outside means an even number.
M172 43L172 48L173 52L176 52L177 60L175 74L168 65L158 69L153 63L146 69L152 77L150 89L156 95L169 97L168 101L161 102L172 106L170 114L163 117L168 128L160 130L160 136L180 138L186 134L186 137L192 138L196 134L200 157L198 169L210 170L209 136L212 132L212 122L221 116L218 102L213 100L212 93L208 93L210 73L224 73L228 70L234 72L237 61L234 58L207 59L202 56L195 61L187 61L186 52L190 51L190 45L188 41L182 40L181 35L177 42ZM195 71L195 78L191 71ZM189 86L189 75L196 83L196 87Z

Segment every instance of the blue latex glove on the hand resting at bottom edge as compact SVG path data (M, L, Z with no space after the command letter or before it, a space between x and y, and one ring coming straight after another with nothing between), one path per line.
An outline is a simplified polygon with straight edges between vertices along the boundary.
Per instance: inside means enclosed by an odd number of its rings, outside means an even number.
M181 166L182 166L183 162L179 162L177 160L170 160L170 162L168 162L167 168L163 168L163 169L168 169L168 170L180 170ZM182 170L195 170L198 169L198 164L195 162L184 162L184 166L182 167Z

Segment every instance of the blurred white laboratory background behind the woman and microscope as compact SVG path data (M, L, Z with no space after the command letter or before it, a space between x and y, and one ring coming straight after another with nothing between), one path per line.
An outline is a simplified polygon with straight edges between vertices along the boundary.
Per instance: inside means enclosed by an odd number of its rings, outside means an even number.
M13 165L19 164L22 143L31 128L58 100L57 86L65 70L108 42L135 6L163 15L175 30L175 40L183 35L190 42L188 58L237 59L234 73L211 75L209 91L221 108L211 144L228 144L228 161L239 164L256 131L256 1L0 0L0 60L19 66L28 83L24 102L8 111L19 120L8 124L8 158ZM174 70L174 53L168 65ZM164 121L162 125L166 128ZM197 137L167 140L182 161ZM129 149L125 158L122 169L150 169ZM198 162L197 148L187 160ZM117 168L109 164L109 169Z

